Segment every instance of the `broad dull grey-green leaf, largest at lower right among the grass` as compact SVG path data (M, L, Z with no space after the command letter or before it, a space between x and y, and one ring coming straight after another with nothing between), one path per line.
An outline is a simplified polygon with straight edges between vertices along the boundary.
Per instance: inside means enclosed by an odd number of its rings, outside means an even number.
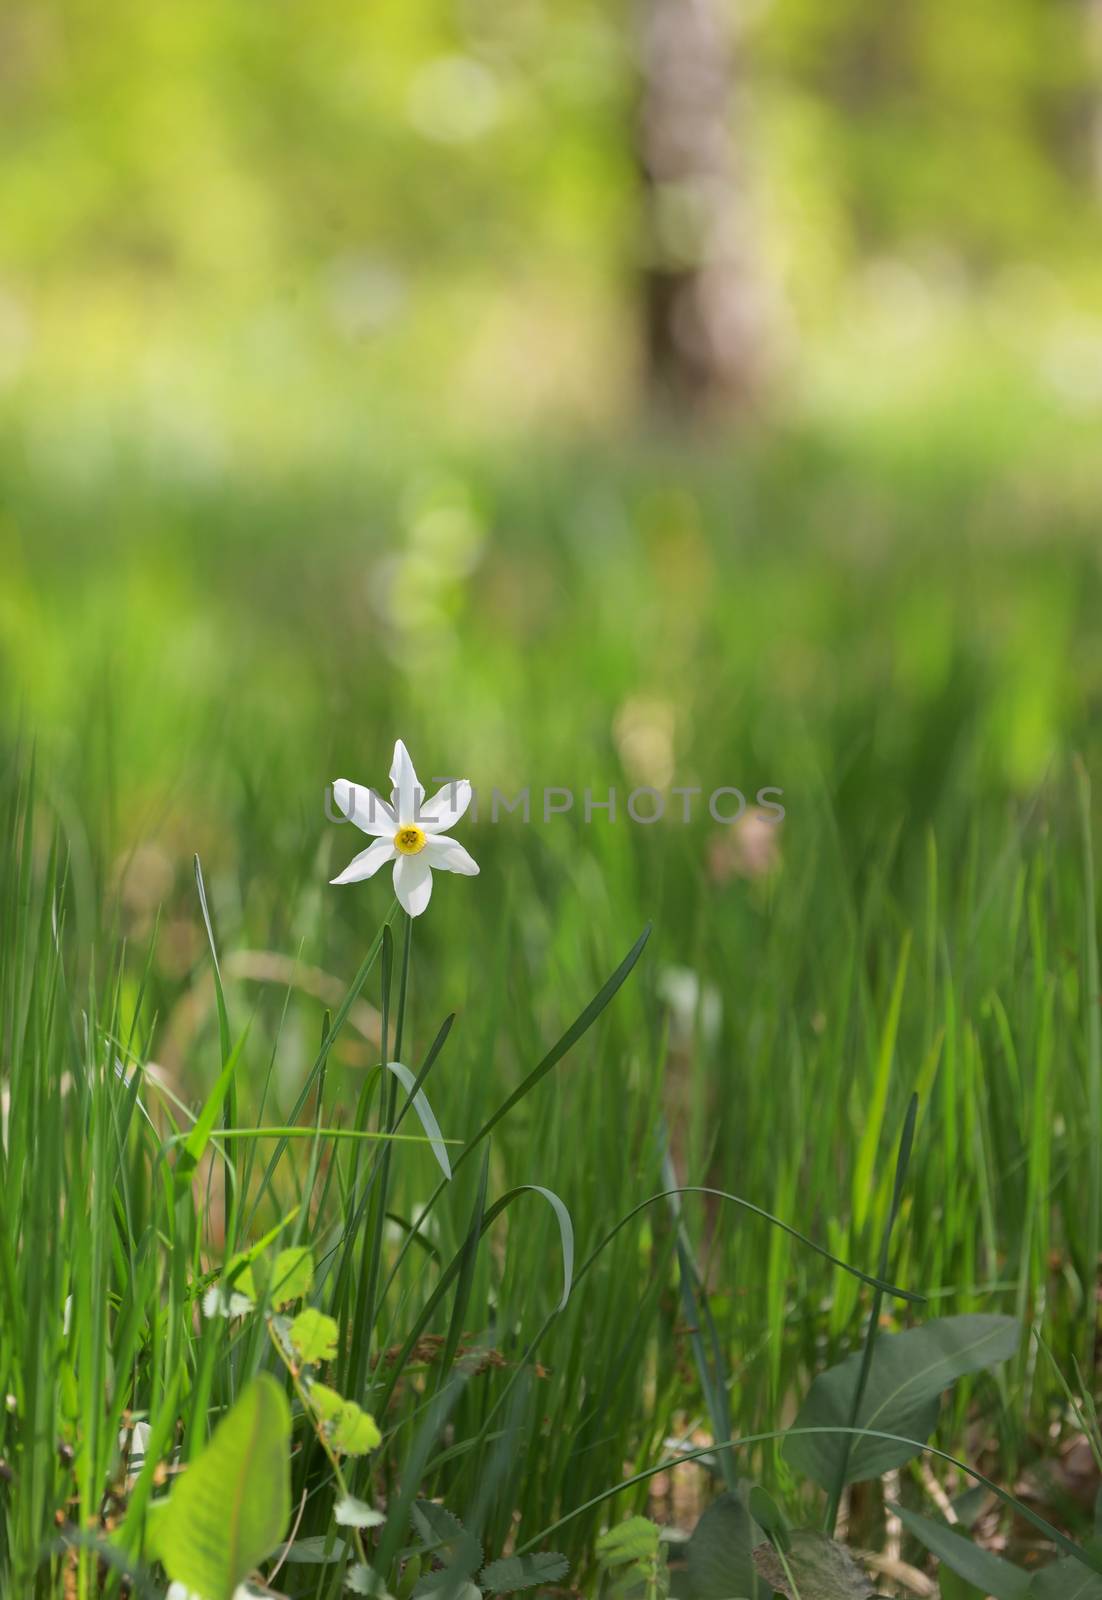
M1008 1360L1017 1350L1019 1336L1014 1317L939 1317L907 1333L883 1334L876 1341L856 1426L924 1443L937 1426L942 1392L966 1373ZM785 1438L789 1464L825 1490L843 1467L844 1482L859 1483L918 1454L912 1443L846 1435L860 1362L862 1352L856 1350L816 1378ZM801 1434L801 1429L840 1432Z

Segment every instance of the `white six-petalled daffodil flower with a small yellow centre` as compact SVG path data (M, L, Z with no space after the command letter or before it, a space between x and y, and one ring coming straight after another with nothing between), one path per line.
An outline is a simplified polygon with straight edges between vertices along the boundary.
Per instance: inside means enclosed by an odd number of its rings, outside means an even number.
M478 872L478 864L446 832L470 805L470 784L459 778L445 784L432 800L425 800L409 752L398 739L390 763L390 789L387 805L373 789L350 784L347 778L337 778L333 784L339 810L358 829L371 834L374 845L353 856L344 872L329 882L358 883L393 861L393 893L411 917L419 917L432 894L433 867L467 877Z

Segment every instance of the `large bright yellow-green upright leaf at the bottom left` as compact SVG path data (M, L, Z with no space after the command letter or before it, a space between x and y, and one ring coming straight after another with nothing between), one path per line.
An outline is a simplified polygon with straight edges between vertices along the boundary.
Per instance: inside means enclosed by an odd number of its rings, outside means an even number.
M176 1482L157 1522L171 1579L203 1600L230 1600L275 1549L291 1517L291 1408L261 1373Z

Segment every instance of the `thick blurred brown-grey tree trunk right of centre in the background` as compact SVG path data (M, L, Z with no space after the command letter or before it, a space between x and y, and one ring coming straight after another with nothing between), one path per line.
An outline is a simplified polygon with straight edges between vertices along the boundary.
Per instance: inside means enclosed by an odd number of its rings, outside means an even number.
M637 8L648 389L667 408L753 408L769 330L721 0Z

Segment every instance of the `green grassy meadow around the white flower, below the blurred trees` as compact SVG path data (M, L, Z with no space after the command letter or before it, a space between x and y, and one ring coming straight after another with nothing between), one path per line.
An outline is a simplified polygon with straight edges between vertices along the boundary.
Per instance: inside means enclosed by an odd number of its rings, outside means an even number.
M493 1554L550 1538L587 1594L609 1522L693 1525L725 1461L654 1469L726 1430L757 1438L741 1475L814 1504L774 1430L870 1290L763 1213L875 1277L912 1093L888 1280L1025 1330L937 1443L1089 1530L1052 1464L1097 1339L1097 550L1070 469L932 466L659 438L211 493L123 464L90 496L10 462L10 1592L147 1581L126 1507L155 1480L126 1488L120 1430L149 1421L150 1472L178 1470L280 1370L259 1318L200 1310L258 1240L313 1253L331 1376L382 1432L350 1482L390 1507L438 1499ZM385 789L395 736L481 795L481 875L416 920L387 872L326 882L358 845L325 786ZM627 818L677 786L688 822ZM718 824L721 786L781 789L784 821ZM493 821L494 787L531 819ZM544 821L545 787L574 808ZM385 1150L328 1133L393 1126L395 1058L454 1141L440 1190L413 1114ZM326 1470L299 1414L301 1538ZM918 1502L968 1486L908 1472ZM849 1515L878 1547L880 1496Z

